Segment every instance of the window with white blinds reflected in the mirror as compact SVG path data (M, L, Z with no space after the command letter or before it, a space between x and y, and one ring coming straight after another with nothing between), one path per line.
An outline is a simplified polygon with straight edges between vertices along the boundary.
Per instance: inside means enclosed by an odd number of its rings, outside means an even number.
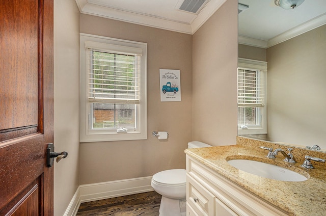
M266 65L242 60L238 67L238 134L266 133ZM241 61L239 61L241 62ZM264 63L266 64L266 63Z

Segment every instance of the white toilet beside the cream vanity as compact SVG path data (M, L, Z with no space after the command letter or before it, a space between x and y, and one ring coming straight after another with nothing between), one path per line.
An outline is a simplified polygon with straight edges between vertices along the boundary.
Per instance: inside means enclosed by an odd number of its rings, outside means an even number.
M198 141L188 143L188 148L210 147ZM184 169L165 170L153 175L151 186L162 195L159 216L186 215L186 171Z

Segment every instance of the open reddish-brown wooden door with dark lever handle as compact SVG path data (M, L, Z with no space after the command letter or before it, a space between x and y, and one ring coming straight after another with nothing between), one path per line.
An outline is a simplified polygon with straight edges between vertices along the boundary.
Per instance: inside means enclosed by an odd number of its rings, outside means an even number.
M53 0L0 1L0 215L53 215Z

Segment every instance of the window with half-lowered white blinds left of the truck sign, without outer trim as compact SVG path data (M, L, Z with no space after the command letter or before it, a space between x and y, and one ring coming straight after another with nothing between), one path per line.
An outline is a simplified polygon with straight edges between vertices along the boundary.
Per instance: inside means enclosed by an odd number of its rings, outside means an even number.
M87 49L88 102L92 129L137 129L140 104L140 55ZM125 113L129 115L124 115Z

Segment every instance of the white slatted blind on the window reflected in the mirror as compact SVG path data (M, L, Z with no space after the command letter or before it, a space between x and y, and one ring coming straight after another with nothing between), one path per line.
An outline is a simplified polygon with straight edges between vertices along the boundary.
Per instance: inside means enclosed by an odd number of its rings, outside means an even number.
M265 105L264 71L238 68L238 106Z

